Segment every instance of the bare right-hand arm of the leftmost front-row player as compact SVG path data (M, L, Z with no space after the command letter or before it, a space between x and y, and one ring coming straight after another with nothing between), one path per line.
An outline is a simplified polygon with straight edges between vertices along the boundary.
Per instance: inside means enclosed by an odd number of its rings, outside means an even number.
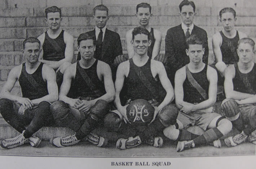
M47 81L47 89L49 94L45 95L44 97L32 100L34 104L39 104L42 101L52 103L58 100L58 86L56 83L56 74L54 70L44 64L42 68L42 76L43 79Z

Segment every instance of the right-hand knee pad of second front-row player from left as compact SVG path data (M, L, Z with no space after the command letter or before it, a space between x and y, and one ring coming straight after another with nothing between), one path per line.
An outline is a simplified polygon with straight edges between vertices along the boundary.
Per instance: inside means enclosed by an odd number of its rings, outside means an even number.
M90 115L94 120L101 120L109 113L110 105L105 100L98 100L90 109Z

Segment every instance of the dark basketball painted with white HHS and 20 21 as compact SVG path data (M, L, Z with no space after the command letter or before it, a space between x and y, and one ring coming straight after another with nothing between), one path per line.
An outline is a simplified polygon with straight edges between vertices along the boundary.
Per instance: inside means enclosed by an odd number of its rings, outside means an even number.
M131 124L145 126L154 117L154 107L144 99L137 99L127 106L126 115Z

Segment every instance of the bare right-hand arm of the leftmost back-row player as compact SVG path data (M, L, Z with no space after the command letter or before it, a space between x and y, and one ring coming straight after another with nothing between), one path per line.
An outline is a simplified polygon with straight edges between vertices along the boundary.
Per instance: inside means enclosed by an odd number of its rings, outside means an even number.
M64 42L66 43L66 49L65 49L65 58L61 59L60 61L47 61L40 59L41 62L46 63L49 67L52 67L53 69L59 68L64 62L72 62L74 57L74 38L72 35L68 34L66 31L64 32Z

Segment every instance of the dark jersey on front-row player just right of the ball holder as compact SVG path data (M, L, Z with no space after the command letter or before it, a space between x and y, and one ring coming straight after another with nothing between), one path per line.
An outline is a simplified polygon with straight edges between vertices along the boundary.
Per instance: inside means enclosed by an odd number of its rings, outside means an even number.
M208 99L208 90L209 90L209 81L207 79L207 65L204 66L203 70L197 73L190 72L191 75L194 77L195 81L206 91L207 99ZM183 100L188 103L200 103L207 99L204 99L202 95L198 92L194 86L191 85L189 80L186 79L183 83L183 92L184 97Z

